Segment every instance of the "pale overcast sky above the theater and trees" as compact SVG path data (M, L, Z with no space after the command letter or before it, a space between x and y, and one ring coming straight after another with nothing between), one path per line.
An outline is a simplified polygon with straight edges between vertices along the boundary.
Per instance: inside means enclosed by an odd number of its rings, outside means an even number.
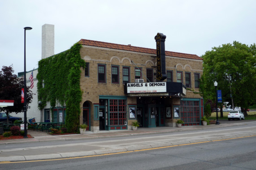
M0 69L38 68L42 26L55 26L55 54L80 39L204 55L212 47L256 43L256 0L0 0Z

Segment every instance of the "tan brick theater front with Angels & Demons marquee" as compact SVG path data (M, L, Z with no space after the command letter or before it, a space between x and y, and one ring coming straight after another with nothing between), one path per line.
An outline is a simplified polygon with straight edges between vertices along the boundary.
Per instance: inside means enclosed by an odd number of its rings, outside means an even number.
M130 130L135 120L141 127L176 127L178 119L184 126L201 125L202 58L165 51L166 79L158 80L156 49L86 39L80 43L87 65L81 68L80 123L89 130Z

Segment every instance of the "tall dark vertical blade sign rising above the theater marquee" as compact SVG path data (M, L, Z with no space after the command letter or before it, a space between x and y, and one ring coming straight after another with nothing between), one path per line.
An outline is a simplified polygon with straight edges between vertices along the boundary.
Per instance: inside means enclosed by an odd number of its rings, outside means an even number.
M165 80L165 38L166 36L162 33L157 33L155 36L156 40L156 60L157 60L157 72L156 78L158 80Z

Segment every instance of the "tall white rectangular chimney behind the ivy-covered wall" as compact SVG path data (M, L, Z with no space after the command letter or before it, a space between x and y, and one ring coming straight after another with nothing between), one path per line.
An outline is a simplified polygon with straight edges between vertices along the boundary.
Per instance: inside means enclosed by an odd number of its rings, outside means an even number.
M54 55L54 25L42 26L42 59Z

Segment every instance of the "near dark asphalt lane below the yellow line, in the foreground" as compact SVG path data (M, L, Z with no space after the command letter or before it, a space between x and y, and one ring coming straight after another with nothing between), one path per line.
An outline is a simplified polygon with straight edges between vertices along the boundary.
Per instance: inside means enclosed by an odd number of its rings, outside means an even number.
M256 136L101 156L0 164L4 170L255 170Z

